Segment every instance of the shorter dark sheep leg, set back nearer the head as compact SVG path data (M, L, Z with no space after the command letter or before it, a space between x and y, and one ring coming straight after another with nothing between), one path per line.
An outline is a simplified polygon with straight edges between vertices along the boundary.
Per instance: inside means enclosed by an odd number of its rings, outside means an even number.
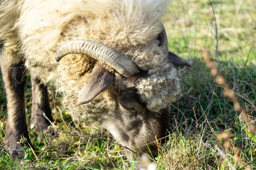
M51 124L50 122L53 122L47 86L41 83L40 79L33 75L31 75L31 82L32 113L30 127L38 133L43 132L44 135L47 135L51 133L51 129L48 127ZM40 137L39 140L41 140Z

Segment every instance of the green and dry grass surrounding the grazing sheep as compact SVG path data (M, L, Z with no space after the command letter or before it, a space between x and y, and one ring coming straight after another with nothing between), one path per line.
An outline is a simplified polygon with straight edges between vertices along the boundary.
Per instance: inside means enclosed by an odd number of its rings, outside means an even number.
M194 65L178 68L183 96L172 103L175 108L171 111L170 139L160 148L155 161L159 170L256 169L256 133L224 96L224 88L216 84L216 77L211 76L203 59L207 51L219 63L218 71L247 110L249 119L255 121L256 2L212 0L211 3L212 6L207 0L172 0L162 19L169 50L193 60ZM42 144L29 129L34 146L40 150L35 155L40 159L35 161L32 151L23 148L25 163L10 161L7 150L3 149L6 99L2 79L0 91L0 169L134 169L136 161L126 160L122 148L105 130L86 122L73 122L51 88L53 129L58 135L43 136ZM29 81L25 95L29 119L32 104ZM226 137L221 137L222 134Z

